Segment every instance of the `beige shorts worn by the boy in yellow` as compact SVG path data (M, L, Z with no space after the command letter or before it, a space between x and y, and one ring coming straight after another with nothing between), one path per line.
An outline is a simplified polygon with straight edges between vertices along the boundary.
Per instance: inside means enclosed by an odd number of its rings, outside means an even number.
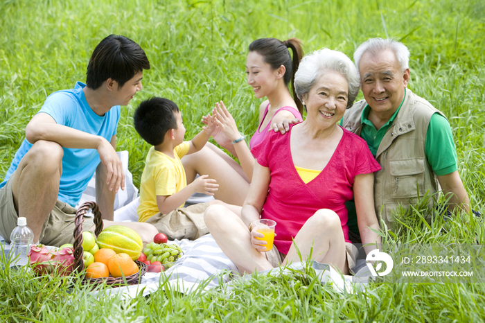
M209 202L179 207L170 213L157 213L145 222L155 225L168 240L195 240L209 233L204 222L204 211L208 207Z

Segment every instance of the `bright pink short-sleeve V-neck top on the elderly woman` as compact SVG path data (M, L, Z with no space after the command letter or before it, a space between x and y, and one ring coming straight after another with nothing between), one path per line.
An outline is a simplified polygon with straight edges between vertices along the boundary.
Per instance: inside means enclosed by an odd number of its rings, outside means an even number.
M270 168L270 185L261 218L276 221L274 245L288 254L292 238L319 209L337 213L346 242L349 240L348 213L345 202L353 197L355 175L373 173L380 166L367 143L344 130L342 139L325 168L307 184L301 180L292 160L290 131L270 132L263 143L251 152L258 164Z

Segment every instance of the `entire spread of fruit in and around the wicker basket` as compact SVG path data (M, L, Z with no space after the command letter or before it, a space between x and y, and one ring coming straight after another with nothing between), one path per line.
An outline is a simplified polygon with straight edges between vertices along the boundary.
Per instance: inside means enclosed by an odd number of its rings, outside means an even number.
M125 277L139 272L134 260L148 265L148 272L161 272L170 268L182 256L182 248L167 243L165 234L157 234L152 243L143 248L139 234L121 225L103 230L96 239L89 231L82 232L82 260L87 278ZM86 251L87 250L87 251ZM30 265L36 274L59 272L71 274L74 270L74 250L71 243L58 250L44 245L33 245L28 253Z

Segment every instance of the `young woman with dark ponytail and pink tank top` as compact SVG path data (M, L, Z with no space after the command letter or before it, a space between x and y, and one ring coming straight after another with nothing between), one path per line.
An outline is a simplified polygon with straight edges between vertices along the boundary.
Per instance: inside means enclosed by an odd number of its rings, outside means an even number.
M292 50L293 58L288 49ZM249 45L247 83L251 85L256 98L267 98L259 107L259 126L249 142L250 148L265 139L274 123L283 119L303 120L303 105L297 95L292 96L288 89L290 82L294 88L294 73L302 57L301 42L295 38L284 42L275 38L261 38ZM243 205L252 180L254 157L222 101L216 103L214 113L218 117L218 130L213 133L213 138L237 157L240 164L217 146L207 143L199 152L182 158L187 182L192 182L197 173L209 175L219 184L214 198Z

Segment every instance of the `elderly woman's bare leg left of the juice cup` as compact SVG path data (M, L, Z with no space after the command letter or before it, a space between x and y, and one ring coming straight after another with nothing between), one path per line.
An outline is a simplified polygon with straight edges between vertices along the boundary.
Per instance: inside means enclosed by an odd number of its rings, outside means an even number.
M204 220L215 242L241 274L273 268L265 254L252 247L249 229L236 213L222 205L212 205L206 209Z

